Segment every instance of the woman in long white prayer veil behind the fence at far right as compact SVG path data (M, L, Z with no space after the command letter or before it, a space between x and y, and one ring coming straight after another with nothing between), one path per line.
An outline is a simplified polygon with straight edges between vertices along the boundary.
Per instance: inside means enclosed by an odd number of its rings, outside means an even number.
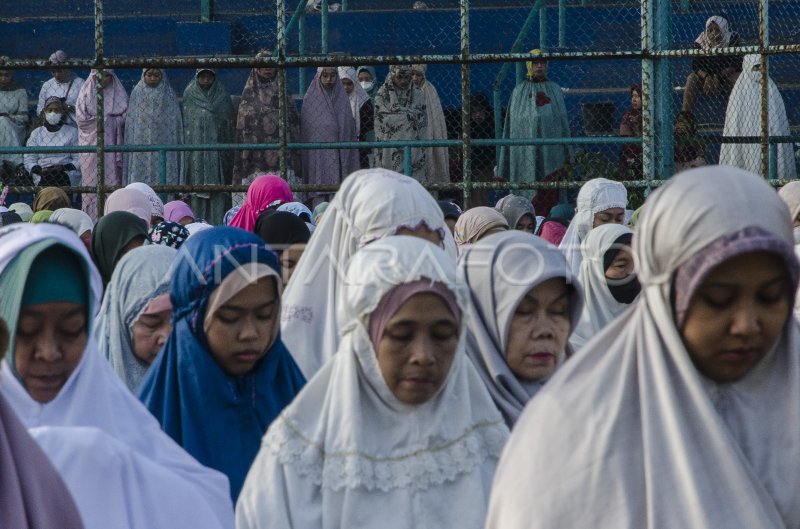
M723 136L761 135L761 55L745 55L742 73L733 85L725 112ZM768 84L768 114L770 136L788 136L789 119L778 87L770 77ZM723 143L719 153L720 165L732 165L745 171L761 174L761 145L758 143ZM791 143L778 144L778 178L794 180L797 167Z

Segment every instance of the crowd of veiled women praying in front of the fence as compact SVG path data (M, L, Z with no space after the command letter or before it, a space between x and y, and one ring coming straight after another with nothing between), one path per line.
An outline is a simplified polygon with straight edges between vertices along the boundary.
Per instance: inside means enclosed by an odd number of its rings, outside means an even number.
M800 182L71 206L2 213L3 527L800 525Z

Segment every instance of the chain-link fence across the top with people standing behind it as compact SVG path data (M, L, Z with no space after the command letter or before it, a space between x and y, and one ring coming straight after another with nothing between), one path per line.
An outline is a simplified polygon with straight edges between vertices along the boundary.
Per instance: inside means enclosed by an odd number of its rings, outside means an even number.
M47 0L2 17L7 204L56 185L97 215L144 182L220 223L255 175L313 206L383 166L546 214L599 176L634 207L702 164L796 178L789 0Z

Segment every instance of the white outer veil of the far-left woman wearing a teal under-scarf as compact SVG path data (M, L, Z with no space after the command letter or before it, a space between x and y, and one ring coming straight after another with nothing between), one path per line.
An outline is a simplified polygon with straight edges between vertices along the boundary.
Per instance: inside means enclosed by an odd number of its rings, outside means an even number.
M0 274L25 247L48 239L68 247L88 267L91 322L101 299L100 275L80 239L63 227L19 223L0 230ZM34 400L12 372L8 359L2 361L0 368L0 392L27 428L87 426L104 431L143 458L172 471L182 486L199 491L205 505L215 515L209 519L210 527L230 527L232 513L227 478L200 465L161 431L155 418L100 355L92 336L89 325L81 360L52 401L42 404Z

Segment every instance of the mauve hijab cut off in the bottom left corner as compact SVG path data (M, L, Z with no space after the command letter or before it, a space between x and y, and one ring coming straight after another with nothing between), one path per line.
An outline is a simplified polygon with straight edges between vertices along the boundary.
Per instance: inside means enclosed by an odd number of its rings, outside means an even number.
M50 460L0 396L0 527L83 529L78 509Z

